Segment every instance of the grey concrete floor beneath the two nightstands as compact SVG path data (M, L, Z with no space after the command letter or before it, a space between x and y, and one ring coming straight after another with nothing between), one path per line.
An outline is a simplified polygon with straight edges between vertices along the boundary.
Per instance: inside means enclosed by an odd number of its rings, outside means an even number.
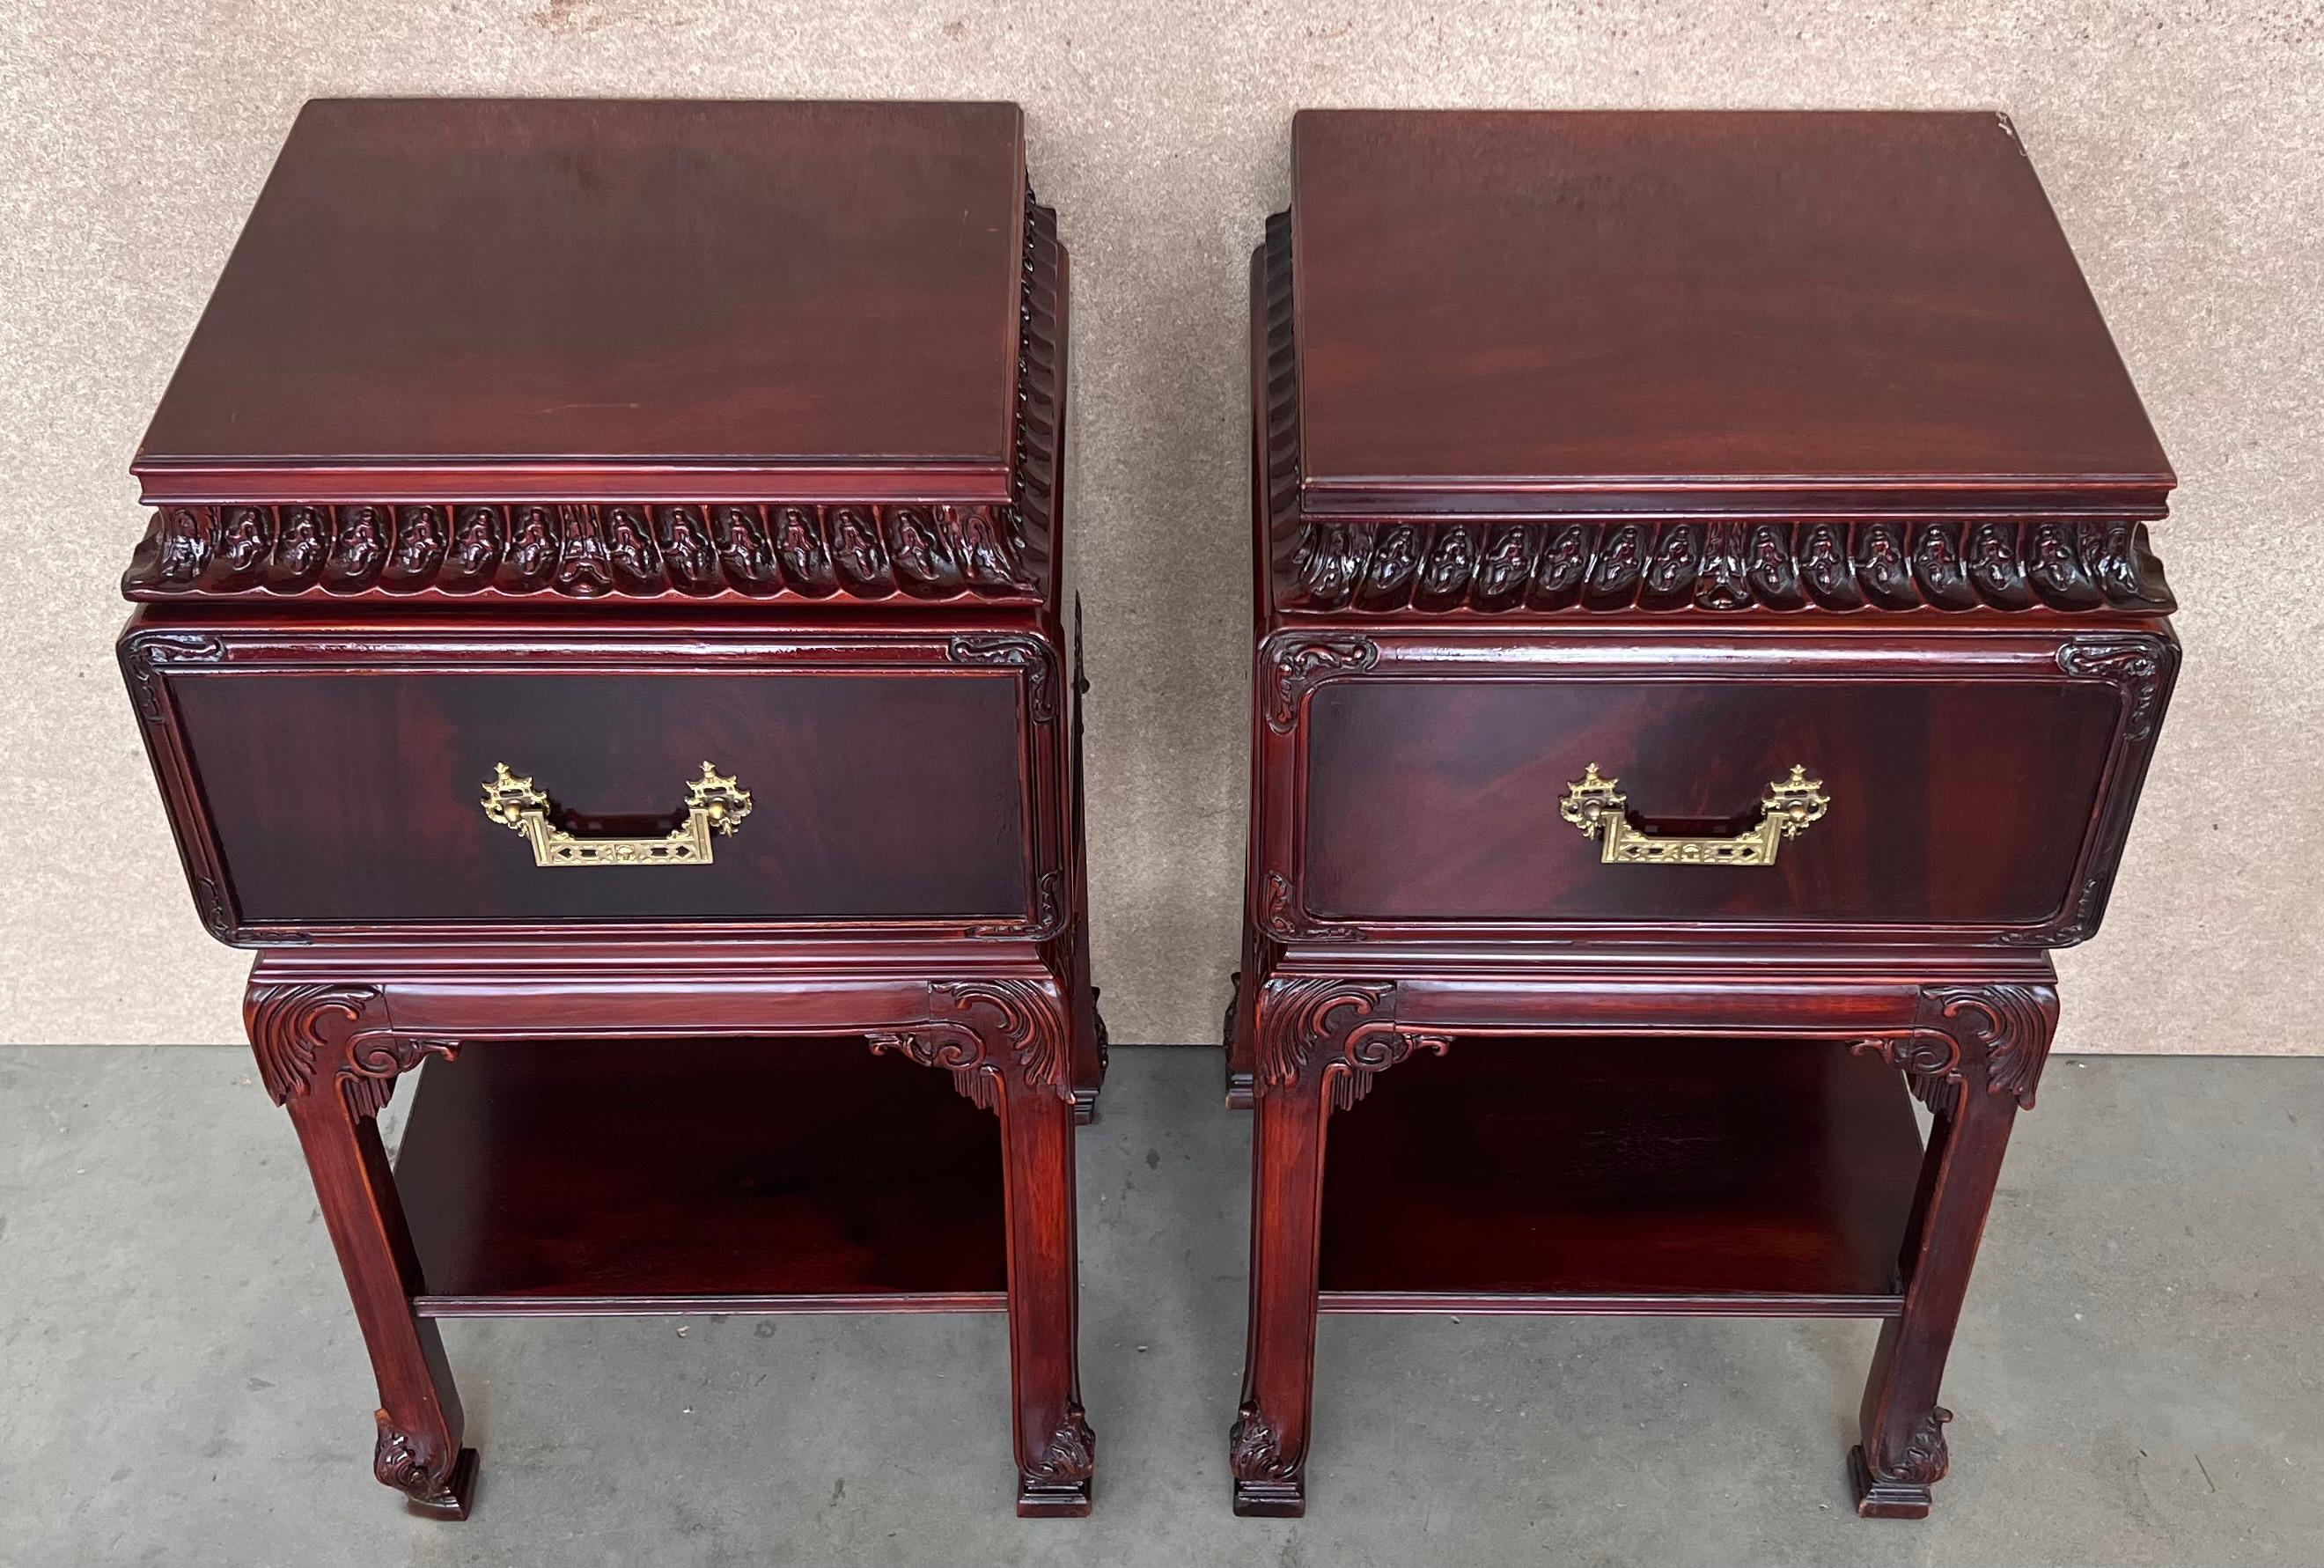
M1325 1319L1311 1517L1227 1512L1246 1117L1116 1052L1081 1148L1097 1517L1018 1522L999 1317L446 1326L467 1524L370 1477L297 1150L221 1048L0 1050L0 1561L2317 1563L2324 1059L2057 1059L1924 1524L1859 1522L1852 1322Z

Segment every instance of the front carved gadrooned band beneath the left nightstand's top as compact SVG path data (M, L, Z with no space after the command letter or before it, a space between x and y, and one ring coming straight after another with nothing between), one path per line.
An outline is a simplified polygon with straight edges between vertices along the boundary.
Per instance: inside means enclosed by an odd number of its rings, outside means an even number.
M1048 513L1041 513L1043 520ZM1009 506L432 502L160 506L130 599L1039 599Z

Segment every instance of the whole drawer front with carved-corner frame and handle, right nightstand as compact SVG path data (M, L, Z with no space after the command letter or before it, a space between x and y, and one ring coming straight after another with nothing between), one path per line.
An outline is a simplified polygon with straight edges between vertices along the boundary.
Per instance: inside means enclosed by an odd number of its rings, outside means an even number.
M1385 643L1306 697L1274 925L2078 941L2173 667L2164 636ZM1762 827L1787 799L1796 836Z

